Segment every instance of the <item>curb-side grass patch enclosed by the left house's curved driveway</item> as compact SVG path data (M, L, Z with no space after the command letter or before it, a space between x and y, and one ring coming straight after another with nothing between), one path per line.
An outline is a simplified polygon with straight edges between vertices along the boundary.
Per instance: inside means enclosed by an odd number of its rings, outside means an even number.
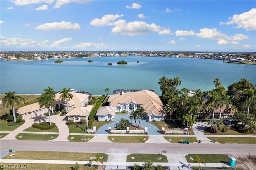
M22 136L20 138L19 136ZM51 138L53 136L53 138ZM57 138L58 134L29 134L29 133L20 133L15 138L18 140L52 140Z

